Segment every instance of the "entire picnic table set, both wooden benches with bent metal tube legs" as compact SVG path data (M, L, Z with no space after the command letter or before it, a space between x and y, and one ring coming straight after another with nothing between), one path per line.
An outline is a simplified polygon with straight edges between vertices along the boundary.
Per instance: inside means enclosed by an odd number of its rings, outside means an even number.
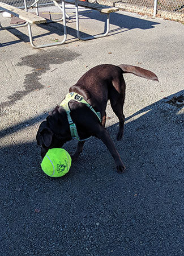
M37 2L39 0L35 0L33 5L37 8ZM37 15L28 13L27 9L27 3L26 0L24 0L24 6L25 10L20 10L16 7L13 7L11 5L7 5L6 3L0 2L0 9L3 11L7 11L8 13L18 16L20 19L25 20L25 24L16 24L8 27L3 27L0 23L0 27L5 30L5 29L10 29L10 28L16 28L16 27L22 27L27 25L28 26L28 33L29 33L29 40L33 48L43 48L43 47L48 47L48 46L57 46L59 44L63 44L66 41L67 37L67 31L66 31L66 11L65 11L65 3L70 3L71 5L75 5L75 13L76 13L76 35L80 40L89 40L89 39L95 39L95 38L101 38L102 36L106 36L109 33L109 19L110 19L110 13L114 13L115 11L119 11L118 8L116 7L110 7L110 6L105 6L105 5L99 5L98 3L89 3L89 2L83 2L83 1L77 1L77 0L52 0L54 5L57 6L63 13L63 40L62 42L54 42L50 44L41 44L39 46L36 46L33 43L33 38L32 38L32 30L31 30L31 25L32 24L41 24L45 23L46 19L38 16L38 8L37 8ZM104 33L100 35L94 35L94 36L86 36L86 37L81 37L80 36L80 31L79 31L79 12L78 12L78 6L82 6L88 9L96 10L99 11L101 14L106 15L106 20L105 20L105 25L104 25ZM68 15L67 15L68 16ZM69 17L68 17L69 18ZM61 20L61 19L59 19ZM59 21L55 20L55 21Z

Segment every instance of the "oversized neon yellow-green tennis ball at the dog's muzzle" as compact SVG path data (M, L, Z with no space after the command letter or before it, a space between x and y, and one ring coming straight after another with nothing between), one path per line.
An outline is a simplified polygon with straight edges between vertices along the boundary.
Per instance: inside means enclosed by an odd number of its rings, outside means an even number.
M41 168L50 177L61 177L69 172L71 156L64 148L49 149L41 162Z

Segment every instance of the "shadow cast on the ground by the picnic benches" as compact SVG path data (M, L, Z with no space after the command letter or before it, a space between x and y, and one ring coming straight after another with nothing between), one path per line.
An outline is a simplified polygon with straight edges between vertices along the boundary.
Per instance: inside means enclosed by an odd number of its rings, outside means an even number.
M96 19L96 20L105 22L104 15L100 15L98 11L89 11L89 10L88 11L79 11L79 15L80 15L79 22L82 20L85 20L85 22L88 22L89 19ZM72 16L72 18L74 18L74 23L75 23L75 15ZM69 23L67 25L70 24L70 20L68 20L68 22ZM132 30L135 28L140 28L142 30L148 30L150 28L154 28L155 25L160 24L160 23L152 22L152 21L146 20L146 19L139 19L139 18L131 17L131 16L124 15L124 14L112 13L112 14L110 14L110 24L118 26L118 28L114 28L114 29L110 30L109 31L110 34L108 36L111 36L111 35L114 35L114 34L117 34L120 32L124 32L127 30ZM37 35L37 36L34 36L34 34L33 34L33 40L35 40L37 38L41 38L46 35L52 35L53 33L57 34L58 36L63 35L63 25L61 23L57 22L57 23L38 24L37 26L40 28L44 28L44 30L48 30L48 32L45 32L44 34ZM103 29L103 26L104 25L102 25L102 29ZM97 27L99 27L99 24L97 24ZM125 28L126 28L126 30L125 30ZM25 43L29 42L28 30L26 32L27 34L24 34L23 32L21 32L19 30L19 28L18 29L11 28L10 30L8 30L8 32L10 32L12 35L17 36L19 38L19 40L16 40L13 42L2 43L2 44L0 44L1 47L5 47L10 44L20 43L21 41L23 41ZM67 34L74 36L74 38L76 38L75 28L67 26ZM89 36L89 34L87 34L86 32L81 32L81 35Z

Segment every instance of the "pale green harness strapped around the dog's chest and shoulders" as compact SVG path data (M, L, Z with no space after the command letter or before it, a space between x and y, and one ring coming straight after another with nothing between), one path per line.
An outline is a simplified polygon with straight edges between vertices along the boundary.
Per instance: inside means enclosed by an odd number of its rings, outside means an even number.
M83 96L81 96L80 94L75 93L75 92L71 92L71 93L66 94L65 99L59 105L59 106L62 106L62 108L65 109L65 111L66 111L67 118L68 118L69 125L70 125L71 137L73 139L78 139L78 141L86 141L90 137L86 138L86 139L80 139L79 135L78 135L78 131L76 130L76 125L71 119L71 115L70 115L71 110L70 110L70 107L69 107L69 102L71 100L78 101L78 102L83 103L86 106L88 106L88 108L91 109L92 112L97 115L97 117L99 118L99 120L101 122L100 112L96 112L95 109L93 109L93 107L87 101L84 100Z

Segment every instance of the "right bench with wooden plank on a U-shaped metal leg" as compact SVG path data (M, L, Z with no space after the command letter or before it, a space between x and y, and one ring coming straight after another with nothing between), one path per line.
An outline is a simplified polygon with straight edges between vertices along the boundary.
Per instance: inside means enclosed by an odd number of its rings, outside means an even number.
M61 2L62 0L55 0L57 2ZM70 3L71 5L75 5L75 14L76 14L76 35L80 40L89 40L89 39L95 39L95 38L101 38L102 36L106 36L109 33L109 20L110 20L110 13L114 13L115 11L119 11L116 7L110 7L105 5L99 5L99 3L89 3L84 1L77 1L77 0L63 0L66 3ZM106 20L104 24L104 33L100 35L94 35L94 36L86 36L81 37L80 31L79 31L79 11L78 6L85 7L88 9L99 11L101 14L106 14ZM106 27L106 28L105 28Z

